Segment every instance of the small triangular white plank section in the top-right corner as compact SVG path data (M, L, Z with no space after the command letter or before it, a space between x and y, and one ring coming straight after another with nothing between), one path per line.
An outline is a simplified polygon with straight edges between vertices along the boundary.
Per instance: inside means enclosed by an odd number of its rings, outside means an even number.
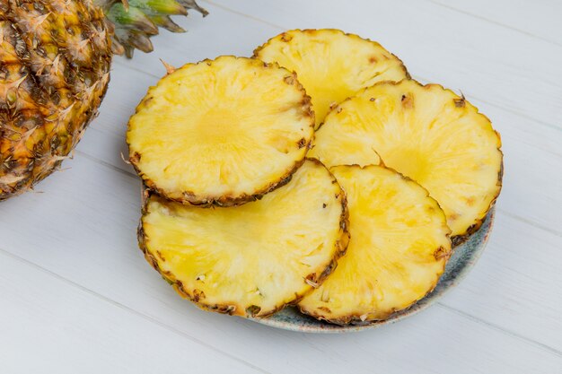
M557 0L427 0L562 46L562 3Z

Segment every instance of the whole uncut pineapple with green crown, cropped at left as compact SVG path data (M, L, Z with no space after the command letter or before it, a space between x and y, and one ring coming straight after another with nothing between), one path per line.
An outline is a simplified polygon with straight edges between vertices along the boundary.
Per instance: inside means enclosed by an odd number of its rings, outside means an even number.
M169 15L192 4L135 0L123 14L114 0L0 0L0 200L29 190L74 149L97 115L112 53L149 50L155 24L170 26Z

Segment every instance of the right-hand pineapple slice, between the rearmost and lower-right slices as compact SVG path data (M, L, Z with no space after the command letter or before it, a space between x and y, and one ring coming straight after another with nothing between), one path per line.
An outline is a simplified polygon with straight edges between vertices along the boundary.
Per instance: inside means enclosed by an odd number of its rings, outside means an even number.
M326 166L384 164L443 208L459 244L479 229L501 189L501 141L490 120L436 84L378 83L338 105L316 134Z

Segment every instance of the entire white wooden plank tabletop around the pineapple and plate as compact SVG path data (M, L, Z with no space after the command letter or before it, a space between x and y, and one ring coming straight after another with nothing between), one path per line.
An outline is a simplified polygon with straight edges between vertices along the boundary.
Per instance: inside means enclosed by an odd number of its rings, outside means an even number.
M0 373L561 373L562 2L201 1L187 34L116 58L75 159L0 204ZM378 40L413 76L461 90L503 137L504 190L479 264L439 304L360 334L304 335L181 300L136 246L124 133L172 65L249 56L282 30Z

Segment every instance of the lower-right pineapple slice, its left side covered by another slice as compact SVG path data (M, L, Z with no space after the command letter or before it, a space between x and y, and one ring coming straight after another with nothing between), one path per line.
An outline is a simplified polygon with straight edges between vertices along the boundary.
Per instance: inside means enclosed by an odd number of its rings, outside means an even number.
M346 256L300 301L303 313L345 325L390 317L434 289L451 230L425 188L382 166L331 169L347 193Z

